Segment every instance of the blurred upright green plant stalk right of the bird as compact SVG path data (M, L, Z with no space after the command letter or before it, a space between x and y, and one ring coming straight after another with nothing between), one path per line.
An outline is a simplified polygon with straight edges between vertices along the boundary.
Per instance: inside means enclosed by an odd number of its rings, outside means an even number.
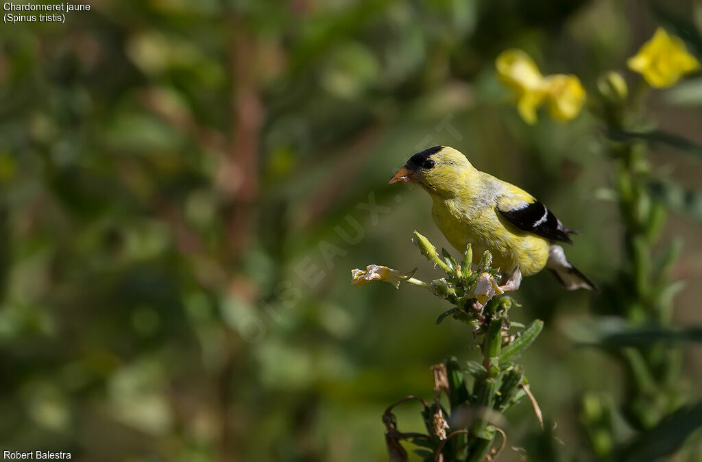
M609 133L635 130L642 117L640 88L634 98L617 72L600 77L597 88L602 98L602 117ZM654 251L665 226L663 202L654 197L649 184L651 167L646 145L640 140L610 141L608 154L614 168L614 189L623 223L623 270L619 286L623 303L616 303L631 329L672 326L673 297L680 282L670 280L670 268L677 260L681 244L673 240L662 251ZM625 345L614 350L626 376L625 400L621 411L628 424L644 432L670 416L684 402L681 388L682 347L663 339L644 345ZM581 421L600 460L619 458L615 448L614 402L588 394L583 398Z

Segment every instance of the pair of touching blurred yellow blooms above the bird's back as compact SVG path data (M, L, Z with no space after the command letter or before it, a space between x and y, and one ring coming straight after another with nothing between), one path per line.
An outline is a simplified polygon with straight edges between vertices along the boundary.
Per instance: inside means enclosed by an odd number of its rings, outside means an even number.
M585 90L578 77L555 74L543 77L534 60L522 50L503 51L495 60L500 81L515 93L517 110L527 124L535 124L536 110L548 105L551 117L574 119L585 103Z

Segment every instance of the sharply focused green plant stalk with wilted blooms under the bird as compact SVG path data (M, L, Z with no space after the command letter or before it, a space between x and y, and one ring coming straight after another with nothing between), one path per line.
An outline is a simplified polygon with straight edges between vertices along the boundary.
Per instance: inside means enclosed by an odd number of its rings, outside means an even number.
M392 462L408 460L401 441L409 440L418 447L416 453L425 461L480 462L494 460L507 444L507 436L499 427L503 414L523 397L529 397L541 425L541 411L529 391L527 379L519 364L513 360L526 350L543 329L535 320L529 326L510 322L508 312L517 303L503 293L497 284L498 269L491 268L492 256L486 251L476 271L471 270L472 249L465 250L461 264L442 249L439 256L429 240L414 232L413 242L420 253L444 277L430 283L414 277L416 270L399 272L380 265L368 265L365 270L352 270L352 284L361 286L371 281L384 281L399 289L403 282L427 289L435 296L453 304L439 315L437 324L453 317L468 324L475 344L482 353L480 362L469 361L461 367L456 357L432 366L434 372L434 401L407 396L390 405L383 414L387 432L385 441ZM521 329L510 333L510 329ZM422 417L427 433L402 433L392 413L397 405L417 401L423 406ZM496 446L496 436L501 439Z

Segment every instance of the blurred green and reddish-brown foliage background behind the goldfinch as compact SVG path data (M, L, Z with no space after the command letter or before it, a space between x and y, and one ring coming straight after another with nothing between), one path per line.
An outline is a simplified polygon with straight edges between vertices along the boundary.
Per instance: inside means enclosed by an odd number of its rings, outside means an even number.
M573 319L609 303L621 224L599 122L519 119L494 58L517 46L588 93L661 25L645 2L93 0L65 25L0 26L0 449L81 461L385 461L383 409L432 396L431 364L475 357L448 305L350 286L370 263L435 272L449 245L419 188L386 183L451 145L581 231L571 261L605 288L525 279L512 317L545 320L522 358L577 453L582 393L624 392ZM668 10L696 20L702 4ZM625 73L635 82L640 77ZM700 81L654 93L651 119L702 143ZM696 86L691 86L696 84ZM695 89L697 92L695 93ZM656 147L694 189L699 161ZM676 324L702 323L699 224ZM692 395L702 351L684 362ZM399 428L420 430L418 409ZM508 449L538 423L508 414Z

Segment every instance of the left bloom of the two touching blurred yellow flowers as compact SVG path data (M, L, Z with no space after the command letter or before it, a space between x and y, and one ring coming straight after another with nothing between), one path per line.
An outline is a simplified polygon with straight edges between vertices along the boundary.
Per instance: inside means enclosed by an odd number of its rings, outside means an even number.
M503 51L495 60L500 81L515 92L517 110L527 124L536 124L536 109L545 96L543 75L522 50Z

